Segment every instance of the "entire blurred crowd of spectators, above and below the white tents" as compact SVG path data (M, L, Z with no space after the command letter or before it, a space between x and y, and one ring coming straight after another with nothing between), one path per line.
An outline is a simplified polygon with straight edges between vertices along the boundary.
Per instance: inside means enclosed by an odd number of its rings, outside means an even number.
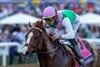
M83 1L83 0L82 0ZM90 0L91 1L91 0ZM0 20L22 12L38 18L42 17L42 12L48 5L54 6L57 10L70 9L74 10L77 14L82 15L87 12L93 12L100 14L100 6L94 2L23 2L23 3L1 3L0 4ZM23 22L22 22L23 23ZM27 32L27 25L15 24L15 25L0 25L0 42L19 42L24 43L25 33ZM100 27L95 25L82 24L80 25L77 35L81 38L100 38ZM10 47L10 64L13 62L13 55L19 55L16 52L16 47ZM13 51L13 52L12 52ZM21 58L19 56L19 63Z

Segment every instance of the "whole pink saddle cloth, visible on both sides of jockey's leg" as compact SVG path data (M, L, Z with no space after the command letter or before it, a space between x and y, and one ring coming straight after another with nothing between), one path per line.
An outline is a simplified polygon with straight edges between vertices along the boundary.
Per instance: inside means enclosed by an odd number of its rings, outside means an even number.
M90 62L92 62L94 60L94 57L93 57L93 54L88 50L88 48L84 45L82 39L80 38L76 38L77 39L77 42L79 43L79 47L81 49L81 53L82 53L82 56L83 56L83 59L84 59L84 62L86 64L89 64ZM74 60L74 63L75 63L75 67L79 67L79 63L78 61L76 60L75 58L75 54L74 54L74 51L72 48L70 48L69 46L66 46L67 47L67 50L71 53L72 55L72 58Z

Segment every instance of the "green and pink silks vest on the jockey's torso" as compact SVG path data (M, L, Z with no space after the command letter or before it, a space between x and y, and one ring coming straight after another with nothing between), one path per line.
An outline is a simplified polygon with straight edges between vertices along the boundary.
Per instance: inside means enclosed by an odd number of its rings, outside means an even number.
M58 29L64 28L62 26L62 21L64 20L64 18L67 18L67 17L70 19L71 24L73 24L76 19L76 13L71 10L57 11L57 18L56 18L55 22L50 26L53 28L58 28Z

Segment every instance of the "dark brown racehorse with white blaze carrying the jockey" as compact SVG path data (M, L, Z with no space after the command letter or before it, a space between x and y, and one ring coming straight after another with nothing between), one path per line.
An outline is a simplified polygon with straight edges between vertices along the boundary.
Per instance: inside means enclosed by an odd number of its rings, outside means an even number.
M53 43L47 34L43 21L37 21L34 25L29 24L29 31L26 36L26 44L22 55L27 58L33 53L37 53L40 67L75 67L74 61L69 51L56 43ZM97 67L97 55L92 45L83 40L86 47L92 52L94 61L84 67Z

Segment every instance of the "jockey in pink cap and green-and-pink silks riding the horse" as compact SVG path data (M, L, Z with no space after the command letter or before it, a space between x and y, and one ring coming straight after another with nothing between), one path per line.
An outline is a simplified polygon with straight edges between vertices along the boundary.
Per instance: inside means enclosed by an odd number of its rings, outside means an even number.
M53 39L63 38L68 40L73 45L80 64L84 65L80 48L75 40L75 34L80 25L79 16L71 10L56 11L52 6L48 6L44 9L42 18L50 26L49 34L55 33Z

